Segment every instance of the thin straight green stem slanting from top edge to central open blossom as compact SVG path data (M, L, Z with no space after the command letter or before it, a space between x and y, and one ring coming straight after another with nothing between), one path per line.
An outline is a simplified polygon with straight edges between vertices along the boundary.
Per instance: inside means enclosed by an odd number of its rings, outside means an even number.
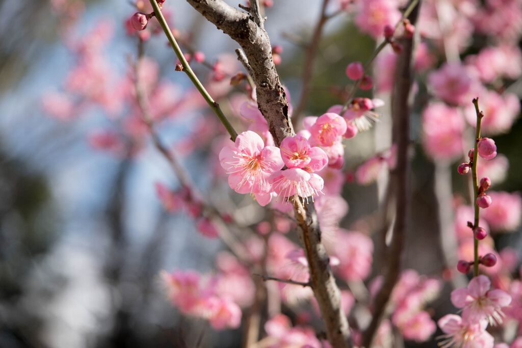
M160 23L161 28L163 28L163 32L165 35L167 35L167 39L169 40L172 49L176 53L176 56L178 59L180 59L181 65L183 66L183 71L185 71L185 74L187 74L188 78L191 79L192 83L194 83L194 86L196 86L197 90L201 95L203 95L203 98L207 101L210 108L213 110L213 112L216 113L216 115L219 118L219 121L225 126L228 133L230 134L230 137L232 138L232 141L235 141L235 138L238 136L238 133L235 131L234 127L230 124L227 117L223 114L221 111L221 108L219 107L219 104L210 97L210 94L208 94L207 90L203 85L201 85L201 82L198 80L196 75L194 74L194 71L192 71L191 67L188 65L188 62L186 61L185 57L183 56L183 53L181 52L180 46L177 44L176 39L174 38L174 35L172 34L172 31L170 30L169 26L167 25L167 21L165 21L165 17L163 17L163 14L161 13L161 10L159 8L158 3L156 0L149 0L150 5L152 5L152 8L154 9L154 14L156 18L158 19L158 22Z

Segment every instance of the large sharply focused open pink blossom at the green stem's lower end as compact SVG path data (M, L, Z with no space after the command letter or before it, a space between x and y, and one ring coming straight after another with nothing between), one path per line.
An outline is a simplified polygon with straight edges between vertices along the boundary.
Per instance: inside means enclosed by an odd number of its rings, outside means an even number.
M263 206L270 201L268 178L284 165L278 148L264 146L263 139L248 130L238 135L234 146L221 150L219 160L230 174L228 182L232 189L255 196Z

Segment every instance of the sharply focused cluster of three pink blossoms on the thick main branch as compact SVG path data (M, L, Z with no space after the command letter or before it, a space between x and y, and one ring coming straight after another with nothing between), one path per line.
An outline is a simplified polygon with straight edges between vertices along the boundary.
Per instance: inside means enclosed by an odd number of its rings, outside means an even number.
M310 146L301 136L287 137L280 148L265 146L263 139L247 130L219 153L223 169L229 175L229 185L236 192L250 194L266 206L272 194L278 197L317 196L323 189L323 179L314 172L328 163L326 153ZM281 170L283 166L286 170Z

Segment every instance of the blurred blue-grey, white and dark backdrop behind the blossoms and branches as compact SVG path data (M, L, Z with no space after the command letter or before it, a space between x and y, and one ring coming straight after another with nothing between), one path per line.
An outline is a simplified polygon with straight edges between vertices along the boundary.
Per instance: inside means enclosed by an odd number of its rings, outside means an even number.
M129 62L136 60L138 41L126 33L125 21L135 8L127 2L86 0L73 2L76 7L59 13L58 2L0 2L0 347L183 347L193 346L191 342L203 332L202 346L239 346L240 329L216 336L203 320L182 317L169 305L159 272L174 268L211 271L216 252L226 247L218 239L195 233L191 218L165 212L155 183L176 188L179 182L150 139L143 140L136 154L121 155L107 145L110 139L103 142L93 137L97 129L117 123L108 116L110 105L85 107L81 115L63 119L50 116L43 105L45 98L63 89L76 66L78 51L72 52L71 47L78 48L81 38L96 29L101 30L99 36L108 37L97 48L110 72L102 77L110 80L128 73ZM278 72L292 102L300 93L302 43L310 38L320 3L284 0L266 8L272 45L283 48ZM165 8L171 10L170 21L176 29L191 33L191 46L203 51L206 61L215 62L237 48L184 1L168 0ZM374 41L358 33L346 18L337 16L325 27L306 114L319 115L339 103L346 93L343 71L347 62L364 62L374 50ZM179 93L175 98L183 96L189 81L174 71L175 57L163 35L153 35L145 55L158 62L161 80L175 83ZM195 70L203 79L212 72L204 66ZM115 83L107 88L114 95L121 89ZM515 89L520 92L519 87ZM181 121L162 123L159 134L166 143L186 143L186 133L198 131L201 115L213 117L202 111L205 105L200 101L197 105L187 107ZM422 105L419 102L413 115L414 141L419 139ZM350 142L348 169L389 147L387 117L383 111L380 130ZM214 121L208 122L216 126ZM499 151L509 160L507 179L495 189L522 187L521 131L518 119L511 133L495 137ZM134 151L133 146L127 151ZM182 162L200 191L228 194L223 185L216 189L215 143L188 147ZM434 260L440 260L443 251L424 253L426 245L440 244L433 189L437 167L420 146L416 146L413 170L412 216L416 218L409 231L404 267L438 274L442 269L433 267ZM445 179L465 193L464 181L453 172L453 167L444 172ZM350 212L343 226L363 223L367 229L376 228L379 214L375 211L384 184L346 185L344 197ZM520 231L496 239L501 246L520 249ZM212 344L216 338L219 343Z

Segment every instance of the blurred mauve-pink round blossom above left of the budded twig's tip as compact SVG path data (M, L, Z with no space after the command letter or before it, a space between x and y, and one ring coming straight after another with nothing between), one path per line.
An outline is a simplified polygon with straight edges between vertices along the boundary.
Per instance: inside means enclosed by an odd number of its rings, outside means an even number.
M449 104L465 105L471 100L473 79L462 65L444 64L428 75L428 84L438 98Z

